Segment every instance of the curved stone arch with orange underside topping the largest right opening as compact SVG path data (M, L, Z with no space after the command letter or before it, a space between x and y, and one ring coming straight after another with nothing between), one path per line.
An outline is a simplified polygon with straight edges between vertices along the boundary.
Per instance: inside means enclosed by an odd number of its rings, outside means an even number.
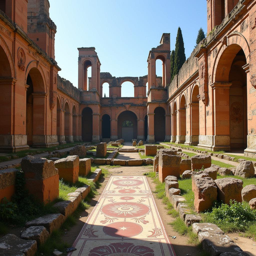
M223 38L222 40L222 46L219 48L215 61L214 61L214 68L212 71L212 82L220 82L220 73L221 67L225 67L224 73L223 73L223 79L225 81L228 81L229 76L229 70L232 65L232 61L236 54L239 52L239 50L243 50L245 56L246 56L246 62L249 63L250 61L250 47L246 40L246 38L241 35L240 33L232 33L229 36ZM223 54L228 54L228 61L225 61L223 58ZM219 74L218 74L218 68L219 68ZM217 75L217 78L216 78Z

